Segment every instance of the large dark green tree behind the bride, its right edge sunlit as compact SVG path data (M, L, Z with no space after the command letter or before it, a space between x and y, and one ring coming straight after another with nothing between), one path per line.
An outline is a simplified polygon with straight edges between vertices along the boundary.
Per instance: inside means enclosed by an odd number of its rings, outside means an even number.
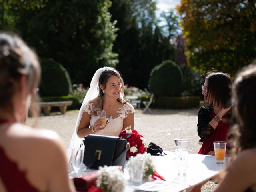
M63 64L73 82L90 85L101 66L116 66L110 0L8 1L15 28L40 57Z

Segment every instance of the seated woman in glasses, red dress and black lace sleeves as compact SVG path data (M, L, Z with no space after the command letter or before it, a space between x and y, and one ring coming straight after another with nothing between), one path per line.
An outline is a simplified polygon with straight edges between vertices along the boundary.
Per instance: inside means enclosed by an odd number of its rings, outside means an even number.
M198 154L214 155L214 141L226 141L230 124L232 80L228 74L210 72L202 86L204 100L208 106L202 106L198 112L197 131L202 147Z

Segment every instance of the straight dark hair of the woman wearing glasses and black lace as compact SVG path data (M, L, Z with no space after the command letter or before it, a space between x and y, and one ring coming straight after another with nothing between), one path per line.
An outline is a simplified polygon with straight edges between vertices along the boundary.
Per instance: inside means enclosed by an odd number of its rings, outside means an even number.
M232 80L230 76L222 72L210 72L206 75L208 90L206 100L214 100L214 106L230 107Z

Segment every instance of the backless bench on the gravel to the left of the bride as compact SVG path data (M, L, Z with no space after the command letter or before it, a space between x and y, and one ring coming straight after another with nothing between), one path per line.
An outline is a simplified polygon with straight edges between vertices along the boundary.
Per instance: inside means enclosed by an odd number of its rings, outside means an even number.
M72 105L73 101L52 101L52 102L38 102L37 104L43 108L45 115L50 115L52 107L59 107L62 114L66 113L67 107Z

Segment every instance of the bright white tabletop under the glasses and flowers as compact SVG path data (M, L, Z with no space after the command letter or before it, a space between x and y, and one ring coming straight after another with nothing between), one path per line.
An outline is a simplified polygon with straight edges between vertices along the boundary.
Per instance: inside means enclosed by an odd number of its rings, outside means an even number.
M137 187L137 190L147 191L159 191L159 192L179 192L187 188L191 188L197 184L209 180L216 176L225 165L216 164L215 156L189 154L188 155L188 168L186 170L186 176L178 176L176 170L176 161L174 152L166 152L166 156L153 156L156 171L164 176L166 181L156 180L154 182L144 182L142 186ZM225 158L227 162L228 158ZM85 166L83 164L79 174L86 174L86 172L92 172L95 170L86 170L82 172ZM129 174L126 168L124 168L124 174L129 180ZM71 176L75 176L72 174ZM126 186L126 192L133 192L135 189L128 181Z

